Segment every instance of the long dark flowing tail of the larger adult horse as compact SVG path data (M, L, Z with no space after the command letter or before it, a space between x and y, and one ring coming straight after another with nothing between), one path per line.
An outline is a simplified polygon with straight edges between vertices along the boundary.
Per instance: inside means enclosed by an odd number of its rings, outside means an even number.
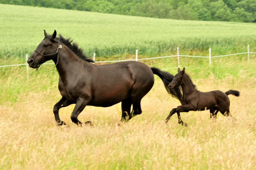
M180 100L182 97L180 87L177 87L175 89L168 88L168 85L172 81L174 75L172 75L168 72L165 72L165 71L161 71L159 68L156 68L156 67L151 67L151 70L153 71L153 74L158 75L162 79L162 81L164 83L164 87L165 87L166 91L168 92L168 94L170 94L172 97Z

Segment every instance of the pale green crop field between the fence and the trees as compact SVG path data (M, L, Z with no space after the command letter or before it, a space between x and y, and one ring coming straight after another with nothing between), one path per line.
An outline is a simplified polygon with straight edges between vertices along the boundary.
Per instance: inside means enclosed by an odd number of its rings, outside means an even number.
M70 36L97 56L157 55L212 48L216 55L256 46L256 24L182 21L0 4L0 58L24 56L42 41L43 29ZM239 45L238 45L239 43ZM9 54L9 55L8 55ZM214 53L213 53L214 54Z

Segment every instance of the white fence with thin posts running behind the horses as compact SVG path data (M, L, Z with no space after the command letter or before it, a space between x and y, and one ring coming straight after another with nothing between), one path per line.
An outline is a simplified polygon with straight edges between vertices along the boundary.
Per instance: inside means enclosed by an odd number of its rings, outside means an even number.
M180 67L180 57L200 57L200 58L209 58L209 63L211 63L211 59L215 57L225 57L225 56L231 56L231 55L240 55L240 54L247 54L247 59L250 61L250 54L256 54L253 52L250 52L250 46L247 45L247 52L245 53L237 53L237 54L229 54L229 55L219 55L219 56L211 56L211 49L209 49L209 57L204 56L192 56L192 55L180 55L179 54L179 47L177 47L177 55L170 55L170 56L164 56L164 57L153 57L153 58L146 58L146 59L138 59L138 50L136 50L136 58L131 60L115 60L115 61L95 61L96 54L93 54L93 60L95 63L108 63L108 62L120 62L120 61L140 61L140 60L150 60L150 59L161 59L161 58L167 58L167 57L178 57L178 67ZM28 54L26 54L26 61L28 61ZM44 64L54 64L54 63L44 63ZM0 67L8 67L8 66L22 66L26 65L27 68L27 76L28 76L28 64L14 64L14 65L5 65ZM178 67L172 67L172 68L178 68ZM200 68L200 67L198 67ZM171 68L162 68L162 70L171 69ZM28 76L29 78L29 76Z

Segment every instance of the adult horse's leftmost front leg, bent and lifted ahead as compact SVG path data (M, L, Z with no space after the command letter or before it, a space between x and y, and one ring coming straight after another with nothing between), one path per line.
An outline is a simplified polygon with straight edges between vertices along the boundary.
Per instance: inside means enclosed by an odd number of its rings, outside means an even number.
M68 99L62 97L60 99L60 101L58 103L56 103L53 107L53 113L54 113L54 117L55 117L55 121L56 121L56 125L66 125L66 123L64 121L60 120L59 117L59 110L61 107L67 107L70 104L73 104L72 102L70 102Z

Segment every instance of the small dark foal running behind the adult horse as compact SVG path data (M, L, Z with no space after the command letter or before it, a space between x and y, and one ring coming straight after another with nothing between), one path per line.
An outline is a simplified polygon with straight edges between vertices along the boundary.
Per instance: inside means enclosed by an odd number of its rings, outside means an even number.
M229 106L230 100L228 95L232 94L234 96L239 96L240 92L236 90L228 90L223 93L220 90L214 90L211 92L200 92L196 90L196 86L192 83L191 79L188 75L185 74L185 68L180 71L178 68L178 74L176 74L172 80L172 82L168 85L170 89L177 88L181 86L182 88L182 98L180 100L182 106L178 106L177 108L172 109L170 114L166 118L166 122L171 118L174 113L178 115L178 122L182 123L180 117L180 112L188 112L188 111L202 111L210 109L210 117L211 119L216 119L218 111L222 113L222 115L229 117L232 120L235 120L234 117L230 114ZM187 125L185 123L185 125Z

